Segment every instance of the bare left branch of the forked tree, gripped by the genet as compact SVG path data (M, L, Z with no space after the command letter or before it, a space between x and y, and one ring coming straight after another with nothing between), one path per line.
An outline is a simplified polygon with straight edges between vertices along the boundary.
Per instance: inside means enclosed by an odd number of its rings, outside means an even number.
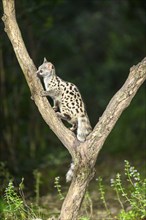
M73 132L67 129L63 123L57 118L54 110L51 108L47 98L42 98L39 94L43 90L40 80L36 76L36 67L30 59L29 54L24 45L21 32L16 22L14 0L3 0L4 15L2 20L5 24L5 31L12 43L18 62L24 73L32 97L37 105L45 122L57 135L60 141L68 149L71 156L75 158L76 150L74 146L79 145Z

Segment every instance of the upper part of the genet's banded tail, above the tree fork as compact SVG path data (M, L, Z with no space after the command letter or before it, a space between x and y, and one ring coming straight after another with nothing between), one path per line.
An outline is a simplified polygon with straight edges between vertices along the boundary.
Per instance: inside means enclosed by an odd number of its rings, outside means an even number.
M92 131L90 121L87 115L78 117L77 138L79 141L84 142L88 134Z

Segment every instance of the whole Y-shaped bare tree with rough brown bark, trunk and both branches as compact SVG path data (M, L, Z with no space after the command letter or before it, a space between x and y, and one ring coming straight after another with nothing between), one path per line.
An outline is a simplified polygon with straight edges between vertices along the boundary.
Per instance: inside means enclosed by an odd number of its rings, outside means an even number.
M146 79L146 58L130 69L126 82L113 96L87 140L84 143L80 143L75 134L67 129L57 118L48 100L40 96L43 87L36 75L36 67L29 57L17 25L14 0L3 0L3 8L4 16L2 19L5 24L5 31L22 68L31 96L43 119L68 149L75 163L75 175L63 202L59 217L60 220L75 220L87 186L94 176L94 165L99 151L120 115L128 107L139 87Z

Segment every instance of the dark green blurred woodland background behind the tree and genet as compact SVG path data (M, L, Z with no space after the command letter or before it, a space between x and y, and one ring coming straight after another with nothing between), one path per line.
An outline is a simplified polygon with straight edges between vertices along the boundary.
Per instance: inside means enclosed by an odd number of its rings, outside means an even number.
M2 6L0 10L2 16ZM130 67L145 57L146 1L21 0L16 1L16 14L35 65L41 65L46 57L62 79L78 86L94 127ZM0 74L0 161L15 181L25 178L30 193L34 170L39 170L44 195L55 176L65 182L71 158L30 99L3 22ZM145 98L143 85L107 138L97 161L97 174L109 176L111 170L120 169L124 159L143 167Z

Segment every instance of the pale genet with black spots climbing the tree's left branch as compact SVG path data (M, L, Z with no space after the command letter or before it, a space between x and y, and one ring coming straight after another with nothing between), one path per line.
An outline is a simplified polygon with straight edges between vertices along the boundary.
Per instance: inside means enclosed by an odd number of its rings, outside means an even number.
M53 99L53 109L58 117L70 123L70 130L77 130L77 139L84 142L92 128L78 88L58 77L54 65L45 58L37 74L43 77L46 89L42 95Z

